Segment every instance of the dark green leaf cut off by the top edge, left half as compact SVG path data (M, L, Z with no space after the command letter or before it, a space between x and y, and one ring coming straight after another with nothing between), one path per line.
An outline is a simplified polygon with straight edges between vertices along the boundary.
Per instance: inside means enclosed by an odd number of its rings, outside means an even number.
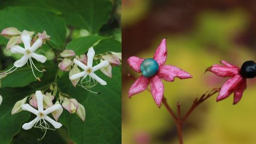
M112 11L109 0L48 0L47 2L60 11L61 17L68 25L84 28L92 34L97 34L107 23Z

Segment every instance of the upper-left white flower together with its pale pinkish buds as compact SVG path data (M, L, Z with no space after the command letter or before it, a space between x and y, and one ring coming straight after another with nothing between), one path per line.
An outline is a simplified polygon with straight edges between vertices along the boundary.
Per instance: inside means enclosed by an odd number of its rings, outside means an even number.
M38 81L41 81L41 79L35 75L34 68L41 73L45 70L44 69L39 70L35 66L32 58L36 59L41 63L44 63L46 61L46 57L44 55L36 54L35 51L39 47L41 47L42 44L45 44L45 42L49 40L50 36L46 34L46 31L43 31L42 34L38 33L36 36L33 37L34 34L35 34L34 31L23 30L21 32L14 27L10 27L2 30L1 35L10 39L9 42L7 43L6 50L11 49L12 53L19 53L19 54L22 54L23 56L19 60L14 62L13 67L11 67L9 70L6 70L0 74L2 75L10 74L16 69L23 67L29 61L29 65L31 67L34 77L38 79ZM23 43L25 48L19 46L18 44L20 43Z

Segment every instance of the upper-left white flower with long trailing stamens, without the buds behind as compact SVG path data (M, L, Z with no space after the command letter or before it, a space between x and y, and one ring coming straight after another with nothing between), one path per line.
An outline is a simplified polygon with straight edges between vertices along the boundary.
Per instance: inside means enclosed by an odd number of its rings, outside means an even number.
M29 34L28 31L24 30L21 34L21 41L23 42L23 44L25 46L25 49L23 47L19 46L19 45L14 45L14 46L11 47L11 52L12 53L23 54L23 56L21 57L21 59L14 62L14 66L12 68L10 68L9 70L7 70L7 71L5 71L4 73L1 73L1 74L12 73L17 68L24 66L28 62L28 60L29 60L30 67L32 69L32 72L33 72L34 76L35 76L35 73L34 73L33 67L35 67L35 69L38 70L39 72L45 71L45 70L39 70L35 66L35 64L32 60L32 58L34 58L34 59L36 59L37 61L39 61L41 63L44 63L46 61L46 57L44 55L40 55L40 54L35 53L35 51L38 49L38 47L42 46L42 41L43 41L42 38L39 37L35 41L35 43L31 46L30 45L30 42L31 42L30 34ZM35 76L35 78L37 78L38 81L40 81L39 77Z

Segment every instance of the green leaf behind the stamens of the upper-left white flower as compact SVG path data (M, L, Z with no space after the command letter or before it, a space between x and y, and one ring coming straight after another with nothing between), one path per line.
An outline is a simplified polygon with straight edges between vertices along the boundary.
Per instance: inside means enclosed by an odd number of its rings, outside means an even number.
M46 62L44 64L37 65L39 63L35 63L37 68L40 69L45 69L47 70L52 70L56 69L57 66L55 66L52 62ZM34 69L35 75L39 78L43 76L43 73L40 73L36 69ZM1 82L1 87L22 87L30 84L31 82L34 82L38 80L34 77L31 67L28 67L27 65L18 68L15 70L13 73L7 75L6 77L3 78ZM41 79L41 81L45 81ZM38 82L39 83L39 82Z

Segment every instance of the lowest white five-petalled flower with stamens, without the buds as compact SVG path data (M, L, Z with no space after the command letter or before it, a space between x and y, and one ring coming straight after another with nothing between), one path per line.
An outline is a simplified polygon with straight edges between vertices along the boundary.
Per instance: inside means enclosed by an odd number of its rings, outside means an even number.
M46 121L48 121L54 126L55 129L59 129L62 126L62 124L54 121L52 118L50 118L47 115L50 113L53 113L54 111L57 111L57 110L63 110L61 105L59 103L57 103L57 104L53 105L52 107L49 107L44 110L43 94L41 91L36 91L36 100L37 100L38 110L36 110L35 108L31 107L28 104L25 104L22 106L22 110L27 110L30 113L33 113L36 115L36 118L33 121L23 124L22 128L24 130L29 130L34 126L36 128L39 128L39 129L45 131L45 133L46 133L47 129L50 129L49 124L46 123ZM52 130L52 129L50 129L50 130ZM44 133L44 135L45 135L45 133Z

